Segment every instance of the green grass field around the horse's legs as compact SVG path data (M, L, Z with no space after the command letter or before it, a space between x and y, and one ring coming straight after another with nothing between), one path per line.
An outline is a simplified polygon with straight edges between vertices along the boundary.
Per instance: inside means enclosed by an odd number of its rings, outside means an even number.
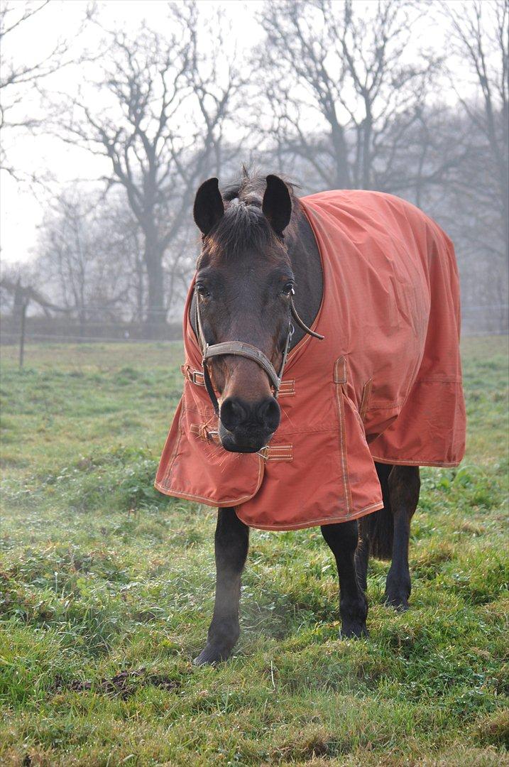
M422 470L411 609L373 561L369 640L340 640L320 531L254 531L216 668L215 512L152 487L181 354L5 350L2 765L508 765L507 340L463 345L468 453Z

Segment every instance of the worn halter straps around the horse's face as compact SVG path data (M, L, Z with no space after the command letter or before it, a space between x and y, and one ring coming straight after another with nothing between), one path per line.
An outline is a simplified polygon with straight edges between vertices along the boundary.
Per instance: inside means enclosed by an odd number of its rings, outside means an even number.
M308 328L307 324L305 324L297 314L297 309L295 308L294 304L293 290L290 307L291 315L299 328L303 330L304 333L307 333L314 338L319 338L320 341L323 341L323 335L315 333L310 328ZM209 394L210 401L212 402L212 406L214 407L216 416L219 415L219 403L218 398L215 396L214 387L212 386L212 380L209 374L209 366L207 365L207 360L212 359L212 357L222 357L225 354L233 354L237 357L246 357L248 360L253 360L268 375L268 379L270 380L271 386L274 389L274 397L277 398L277 394L279 393L279 389L281 387L281 378L283 377L284 366L286 364L288 351L290 349L291 337L294 334L294 326L291 324L291 322L288 323L288 332L286 341L284 343L283 357L278 374L276 373L274 365L271 363L271 360L269 360L267 355L264 354L260 349L257 349L257 347L252 346L251 344L246 344L245 341L223 341L221 344L208 344L207 341L205 341L205 334L203 333L202 317L199 310L199 295L196 295L196 330L198 331L199 344L203 355L203 381L205 383L205 389Z

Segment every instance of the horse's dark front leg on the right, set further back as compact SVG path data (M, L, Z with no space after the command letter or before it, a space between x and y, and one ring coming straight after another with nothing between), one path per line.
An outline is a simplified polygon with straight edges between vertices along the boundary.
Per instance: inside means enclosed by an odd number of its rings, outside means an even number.
M356 577L355 550L359 538L356 520L320 528L336 559L340 579L340 616L343 637L366 637L368 603Z

